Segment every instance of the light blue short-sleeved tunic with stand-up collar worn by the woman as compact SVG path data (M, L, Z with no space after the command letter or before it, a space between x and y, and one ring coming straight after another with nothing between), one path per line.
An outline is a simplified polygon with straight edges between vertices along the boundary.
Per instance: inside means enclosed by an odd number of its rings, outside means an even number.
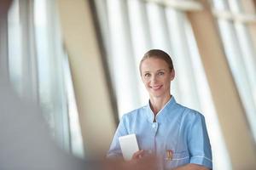
M136 134L140 150L160 157L160 169L188 163L212 169L212 150L204 116L177 104L173 96L156 115L156 122L149 104L125 114L114 134L108 157L122 156L119 137L131 133Z

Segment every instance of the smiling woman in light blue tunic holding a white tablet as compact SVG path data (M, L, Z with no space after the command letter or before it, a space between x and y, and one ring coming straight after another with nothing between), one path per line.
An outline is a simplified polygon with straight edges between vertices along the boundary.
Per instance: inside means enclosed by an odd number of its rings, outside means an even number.
M204 116L177 104L171 94L175 77L171 57L149 50L141 60L140 74L149 94L148 105L125 114L113 137L108 157L122 156L119 137L135 133L140 150L160 157L160 169L212 169L212 150Z

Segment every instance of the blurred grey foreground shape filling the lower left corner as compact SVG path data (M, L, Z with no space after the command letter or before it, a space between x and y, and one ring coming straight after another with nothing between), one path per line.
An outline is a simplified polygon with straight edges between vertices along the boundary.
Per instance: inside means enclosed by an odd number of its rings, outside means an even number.
M0 79L1 170L154 170L154 157L137 161L84 161L58 148L36 104L21 101Z

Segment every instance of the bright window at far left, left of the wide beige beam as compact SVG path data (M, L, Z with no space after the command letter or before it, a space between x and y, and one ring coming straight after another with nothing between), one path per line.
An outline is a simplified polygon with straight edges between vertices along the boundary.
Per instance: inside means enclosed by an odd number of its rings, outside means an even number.
M8 17L9 77L22 99L40 105L61 148L84 156L57 14L55 1L13 1Z

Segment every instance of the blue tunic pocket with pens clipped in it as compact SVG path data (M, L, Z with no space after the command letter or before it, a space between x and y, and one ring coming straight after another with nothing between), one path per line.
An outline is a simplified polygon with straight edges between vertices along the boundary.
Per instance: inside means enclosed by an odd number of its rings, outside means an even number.
M189 163L189 152L176 152L172 154L172 160L166 159L164 160L164 169L172 169L174 167L179 167Z

